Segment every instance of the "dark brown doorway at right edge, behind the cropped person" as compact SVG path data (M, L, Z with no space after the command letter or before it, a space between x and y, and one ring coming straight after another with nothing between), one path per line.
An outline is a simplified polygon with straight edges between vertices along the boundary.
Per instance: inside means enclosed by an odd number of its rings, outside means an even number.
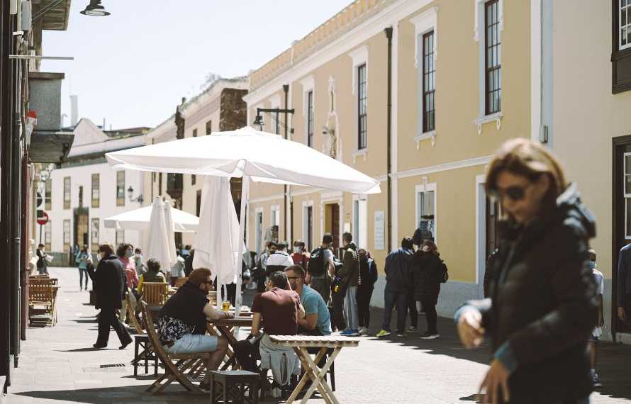
M612 243L612 310L611 332L631 334L631 327L618 319L618 253L631 242L631 135L613 139L613 243ZM627 316L630 313L627 313Z

